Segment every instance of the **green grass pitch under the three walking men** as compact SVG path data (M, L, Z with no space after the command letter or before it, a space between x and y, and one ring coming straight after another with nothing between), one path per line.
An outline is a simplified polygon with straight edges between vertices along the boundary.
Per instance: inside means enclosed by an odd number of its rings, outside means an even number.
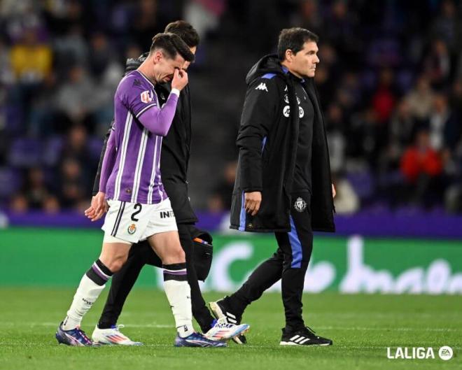
M248 345L229 348L174 348L173 318L162 292L135 289L120 324L142 347L58 346L55 329L72 289L0 287L0 369L461 369L462 297L304 294L304 318L331 347L279 346L283 309L268 293L248 307ZM222 294L205 294L218 299ZM92 333L106 299L87 314ZM440 346L454 357L442 361ZM435 360L388 360L387 347L433 347Z

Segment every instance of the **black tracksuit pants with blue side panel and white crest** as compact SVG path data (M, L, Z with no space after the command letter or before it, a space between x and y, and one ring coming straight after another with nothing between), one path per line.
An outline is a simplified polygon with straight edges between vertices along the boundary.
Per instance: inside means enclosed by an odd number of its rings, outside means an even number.
M298 198L302 201L295 202ZM281 279L281 292L286 315L286 328L290 331L304 327L302 293L304 276L313 250L311 208L309 193L293 195L290 211L290 232L276 232L279 248L262 262L237 292L229 297L230 306L243 313L246 306L259 299L263 292ZM302 211L300 211L304 208Z

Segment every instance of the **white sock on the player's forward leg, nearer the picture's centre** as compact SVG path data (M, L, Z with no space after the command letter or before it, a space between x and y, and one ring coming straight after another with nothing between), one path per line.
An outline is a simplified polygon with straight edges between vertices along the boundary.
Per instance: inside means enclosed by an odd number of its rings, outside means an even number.
M191 308L191 288L188 281L164 281L165 294L175 318L176 331L181 338L193 334L193 312Z

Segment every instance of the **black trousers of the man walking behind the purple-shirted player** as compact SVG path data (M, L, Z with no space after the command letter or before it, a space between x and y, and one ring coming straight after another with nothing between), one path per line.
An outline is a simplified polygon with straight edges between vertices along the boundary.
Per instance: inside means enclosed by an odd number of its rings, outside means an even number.
M199 282L197 281L197 273L193 263L193 237L191 236L193 225L178 224L177 226L180 243L186 254L186 269L188 271L188 283L191 287L193 316L200 325L202 332L207 332L214 318L205 305L204 298L202 298L202 293L200 292ZM100 328L109 328L111 325L116 325L125 300L130 290L132 290L134 283L137 281L143 266L145 264L158 266L159 263L159 257L155 254L148 241L141 241L130 248L127 262L112 277L111 290L109 290L103 313L101 318L99 318L98 326Z

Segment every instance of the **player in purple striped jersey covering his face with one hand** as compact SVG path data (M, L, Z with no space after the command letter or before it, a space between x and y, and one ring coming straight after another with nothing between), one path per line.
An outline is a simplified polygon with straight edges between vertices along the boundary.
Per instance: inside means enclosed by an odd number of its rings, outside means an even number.
M181 70L194 55L174 34L158 34L146 60L120 81L114 97L115 123L104 155L99 191L109 211L99 259L84 274L56 338L70 346L93 346L80 329L87 313L113 273L127 260L132 243L147 239L164 267L164 287L174 314L176 346L226 346L193 329L186 259L172 206L160 177L162 136L167 135L180 90L188 84ZM172 91L160 106L154 84L172 81Z

